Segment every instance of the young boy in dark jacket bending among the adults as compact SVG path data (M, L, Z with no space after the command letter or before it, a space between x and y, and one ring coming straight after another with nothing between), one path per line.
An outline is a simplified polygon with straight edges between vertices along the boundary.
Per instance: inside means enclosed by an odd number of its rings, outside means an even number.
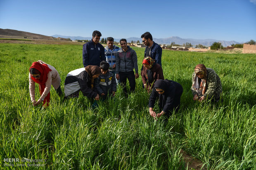
M95 79L95 89L100 94L103 100L107 99L107 96L114 96L116 92L116 78L113 73L109 71L109 63L100 62L100 74L99 78Z

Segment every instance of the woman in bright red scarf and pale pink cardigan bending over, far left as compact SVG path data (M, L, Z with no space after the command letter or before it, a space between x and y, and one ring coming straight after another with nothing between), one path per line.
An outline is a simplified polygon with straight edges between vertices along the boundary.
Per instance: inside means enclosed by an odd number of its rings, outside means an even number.
M51 85L55 88L58 95L62 95L62 90L60 88L60 77L58 71L49 64L38 60L33 62L32 66L29 68L29 93L33 106L45 103L48 106L50 101L50 89ZM40 98L38 101L35 100L35 83L39 84Z

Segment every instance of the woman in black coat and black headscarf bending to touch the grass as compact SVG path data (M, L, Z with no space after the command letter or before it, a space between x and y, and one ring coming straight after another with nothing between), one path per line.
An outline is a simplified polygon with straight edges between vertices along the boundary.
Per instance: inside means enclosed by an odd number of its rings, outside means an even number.
M173 109L178 112L180 108L180 96L183 92L183 87L172 80L157 80L154 85L154 90L149 98L149 113L152 117L161 117L166 115L169 118ZM159 98L159 109L161 113L155 113L153 111L156 98Z

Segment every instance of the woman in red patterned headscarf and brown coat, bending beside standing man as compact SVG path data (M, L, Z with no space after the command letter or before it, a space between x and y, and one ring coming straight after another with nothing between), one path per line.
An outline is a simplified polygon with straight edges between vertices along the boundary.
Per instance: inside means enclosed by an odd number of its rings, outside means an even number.
M147 92L150 92L156 80L164 80L163 69L151 57L145 57L142 64L142 82Z

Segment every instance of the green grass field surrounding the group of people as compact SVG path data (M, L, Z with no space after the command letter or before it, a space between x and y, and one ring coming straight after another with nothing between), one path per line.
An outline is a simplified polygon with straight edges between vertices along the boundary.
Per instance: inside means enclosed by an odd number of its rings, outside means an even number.
M145 48L133 49L140 69ZM0 169L26 169L4 161L26 158L46 159L39 169L185 170L184 149L205 169L256 170L255 54L163 50L165 78L184 89L166 126L149 115L141 77L135 93L126 98L119 89L96 110L82 95L63 102L54 88L48 108L33 107L28 69L37 60L59 71L64 92L66 74L83 67L82 46L0 44ZM222 103L192 100L191 76L200 63L220 76Z

